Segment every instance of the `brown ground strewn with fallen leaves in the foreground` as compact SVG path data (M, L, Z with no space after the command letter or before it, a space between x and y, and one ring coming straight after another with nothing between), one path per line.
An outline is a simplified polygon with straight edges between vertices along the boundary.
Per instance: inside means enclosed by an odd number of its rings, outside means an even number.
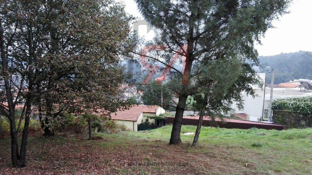
M31 135L27 167L12 168L10 140L0 142L1 174L262 174L231 150L168 145L160 140ZM235 157L239 157L236 155Z

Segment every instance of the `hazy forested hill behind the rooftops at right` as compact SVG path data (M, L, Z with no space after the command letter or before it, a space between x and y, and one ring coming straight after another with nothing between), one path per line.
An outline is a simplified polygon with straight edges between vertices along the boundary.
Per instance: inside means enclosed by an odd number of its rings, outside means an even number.
M259 56L263 69L274 68L274 84L289 82L299 78L312 78L312 52L299 51L273 56ZM267 67L270 68L267 68ZM267 83L271 76L267 76Z

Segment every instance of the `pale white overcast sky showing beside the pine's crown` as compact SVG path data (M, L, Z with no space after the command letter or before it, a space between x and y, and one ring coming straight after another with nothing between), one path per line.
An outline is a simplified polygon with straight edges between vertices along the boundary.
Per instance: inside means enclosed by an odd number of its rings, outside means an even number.
M126 11L143 19L137 10L133 0L121 0L126 5ZM311 0L294 0L289 14L284 15L279 21L274 21L275 28L269 29L262 45L256 45L259 55L276 55L280 53L297 52L299 50L312 51L312 15ZM139 26L139 34L145 35L146 39L153 37L153 31L146 34L146 27Z

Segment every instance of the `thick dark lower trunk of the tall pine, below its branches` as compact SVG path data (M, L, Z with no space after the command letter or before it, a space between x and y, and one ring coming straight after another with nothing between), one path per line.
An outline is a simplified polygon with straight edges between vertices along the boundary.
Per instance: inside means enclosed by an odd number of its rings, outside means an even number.
M180 132L186 99L187 97L179 97L179 102L174 116L169 144L180 144L182 142L180 139Z

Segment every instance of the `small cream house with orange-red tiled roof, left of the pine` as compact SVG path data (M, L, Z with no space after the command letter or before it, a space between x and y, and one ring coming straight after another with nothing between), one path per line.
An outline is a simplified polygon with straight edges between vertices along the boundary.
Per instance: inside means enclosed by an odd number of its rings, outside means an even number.
M134 105L129 110L117 111L111 114L111 119L127 126L130 130L138 131L138 124L145 120L144 116L155 116L163 113L165 113L165 110L160 106ZM155 124L154 119L149 119L149 122Z

